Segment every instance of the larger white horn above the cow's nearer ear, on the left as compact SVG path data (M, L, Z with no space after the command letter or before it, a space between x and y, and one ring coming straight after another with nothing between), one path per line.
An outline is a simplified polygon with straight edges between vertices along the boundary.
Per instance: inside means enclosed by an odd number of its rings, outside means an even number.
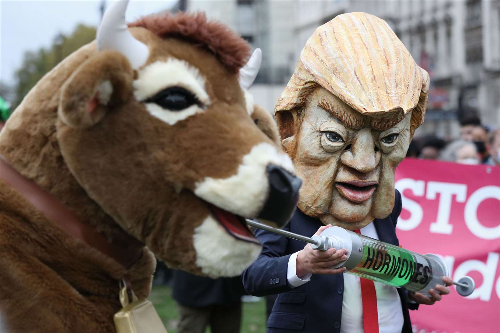
M125 23L125 10L128 0L114 1L104 13L97 29L97 49L121 52L133 69L146 63L149 48L135 39Z

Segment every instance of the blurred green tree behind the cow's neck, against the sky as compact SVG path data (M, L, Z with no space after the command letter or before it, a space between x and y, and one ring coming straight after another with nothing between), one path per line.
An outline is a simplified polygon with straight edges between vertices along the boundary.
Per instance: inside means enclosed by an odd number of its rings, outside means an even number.
M95 27L78 24L68 36L58 33L52 45L40 48L37 51L26 51L22 65L15 71L15 100L14 109L22 101L28 91L66 56L89 43L95 38Z

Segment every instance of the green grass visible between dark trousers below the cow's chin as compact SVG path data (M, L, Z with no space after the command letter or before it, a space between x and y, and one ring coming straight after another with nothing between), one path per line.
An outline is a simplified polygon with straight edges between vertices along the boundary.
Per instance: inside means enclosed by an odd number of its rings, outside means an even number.
M172 291L167 286L153 286L149 300L153 303L168 333L177 332L179 313L177 304L172 299ZM209 333L207 329L205 333ZM241 333L265 332L265 300L243 303Z

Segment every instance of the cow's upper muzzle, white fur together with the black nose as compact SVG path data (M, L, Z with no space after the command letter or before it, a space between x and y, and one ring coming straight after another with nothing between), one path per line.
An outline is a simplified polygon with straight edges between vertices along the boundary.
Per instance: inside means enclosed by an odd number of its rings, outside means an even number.
M242 157L232 176L205 177L195 183L194 194L216 208L279 228L295 209L300 184L288 155L262 142Z

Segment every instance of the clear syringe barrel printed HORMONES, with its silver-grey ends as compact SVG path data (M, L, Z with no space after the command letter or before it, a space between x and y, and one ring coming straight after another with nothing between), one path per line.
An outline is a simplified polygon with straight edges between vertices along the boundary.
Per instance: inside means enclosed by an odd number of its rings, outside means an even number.
M421 255L339 227L327 228L320 236L342 239L347 260L330 268L346 267L345 273L424 295L444 285L442 277L448 275L436 255Z

